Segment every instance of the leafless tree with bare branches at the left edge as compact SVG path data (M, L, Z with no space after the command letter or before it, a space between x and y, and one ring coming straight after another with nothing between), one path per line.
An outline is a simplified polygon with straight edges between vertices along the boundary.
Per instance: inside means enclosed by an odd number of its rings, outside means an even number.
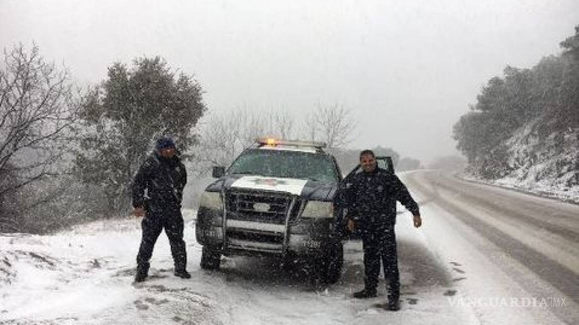
M66 69L45 62L36 45L30 51L23 45L4 50L0 62L0 210L6 209L9 196L58 173L75 116ZM8 213L2 213L0 231L17 228L14 217L8 219Z

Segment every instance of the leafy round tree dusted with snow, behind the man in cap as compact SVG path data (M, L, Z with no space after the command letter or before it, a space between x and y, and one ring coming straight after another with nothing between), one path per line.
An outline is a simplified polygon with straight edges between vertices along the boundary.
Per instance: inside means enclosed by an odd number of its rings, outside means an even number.
M103 189L109 208L128 208L133 176L156 138L173 136L184 153L196 143L193 127L206 111L202 94L193 76L174 72L160 57L137 58L131 68L113 64L82 108L80 179Z

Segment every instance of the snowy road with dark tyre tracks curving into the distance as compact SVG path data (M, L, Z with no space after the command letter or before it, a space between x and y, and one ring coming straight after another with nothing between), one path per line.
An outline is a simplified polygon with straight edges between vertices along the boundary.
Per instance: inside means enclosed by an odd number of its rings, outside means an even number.
M475 306L481 322L579 322L579 205L439 171L412 173L406 182L431 216L425 236L439 256L463 264L463 297L507 298L508 307ZM445 231L448 237L436 238ZM514 305L546 298L549 306L513 307L511 298Z

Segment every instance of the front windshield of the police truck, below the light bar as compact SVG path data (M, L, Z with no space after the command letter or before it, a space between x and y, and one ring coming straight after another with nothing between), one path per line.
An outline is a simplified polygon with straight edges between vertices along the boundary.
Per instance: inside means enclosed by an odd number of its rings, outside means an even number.
M338 182L338 170L331 157L323 154L283 150L246 150L228 170L232 174Z

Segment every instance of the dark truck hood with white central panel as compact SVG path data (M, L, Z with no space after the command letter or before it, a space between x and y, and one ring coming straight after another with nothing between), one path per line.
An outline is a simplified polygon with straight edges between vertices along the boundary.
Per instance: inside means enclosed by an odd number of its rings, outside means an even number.
M275 178L266 176L230 175L207 186L207 191L240 189L258 190L298 195L306 200L332 201L337 184L307 179Z

